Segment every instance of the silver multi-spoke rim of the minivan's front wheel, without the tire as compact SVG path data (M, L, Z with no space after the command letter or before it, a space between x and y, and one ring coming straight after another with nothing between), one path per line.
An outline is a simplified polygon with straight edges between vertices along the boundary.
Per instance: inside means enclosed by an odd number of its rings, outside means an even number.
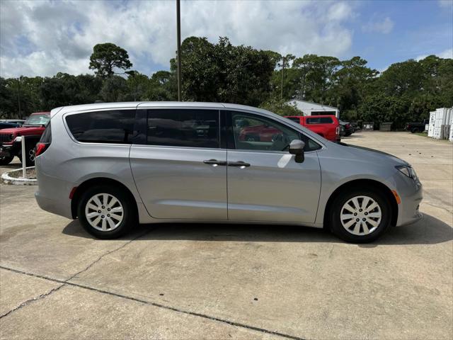
M343 228L351 234L368 235L379 227L381 207L369 196L355 196L341 208L340 220Z

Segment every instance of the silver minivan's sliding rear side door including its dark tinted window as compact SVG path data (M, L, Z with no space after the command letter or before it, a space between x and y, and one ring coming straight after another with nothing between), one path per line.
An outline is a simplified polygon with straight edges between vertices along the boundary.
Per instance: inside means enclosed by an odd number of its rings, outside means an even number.
M144 145L130 164L149 215L226 220L226 149L219 148L219 111L149 109Z

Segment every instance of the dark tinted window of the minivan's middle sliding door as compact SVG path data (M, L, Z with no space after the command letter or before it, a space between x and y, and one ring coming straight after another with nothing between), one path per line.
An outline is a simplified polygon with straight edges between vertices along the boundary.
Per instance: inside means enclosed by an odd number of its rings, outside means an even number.
M155 109L148 111L149 145L219 147L219 111Z

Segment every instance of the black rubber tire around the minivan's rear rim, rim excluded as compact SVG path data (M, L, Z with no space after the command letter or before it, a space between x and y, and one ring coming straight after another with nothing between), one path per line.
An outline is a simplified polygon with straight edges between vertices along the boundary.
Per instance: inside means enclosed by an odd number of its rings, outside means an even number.
M122 221L120 225L115 227L113 230L102 231L98 230L93 227L85 214L85 208L93 196L100 193L107 193L113 197L115 197L122 205L123 212L122 212ZM133 198L131 199L130 195L125 193L122 188L117 188L115 186L93 186L88 188L80 197L79 203L77 205L77 216L79 217L79 221L84 227L84 229L99 239L116 239L117 237L121 237L122 235L129 232L134 226L137 225L137 209L134 205ZM89 210L88 210L89 211Z

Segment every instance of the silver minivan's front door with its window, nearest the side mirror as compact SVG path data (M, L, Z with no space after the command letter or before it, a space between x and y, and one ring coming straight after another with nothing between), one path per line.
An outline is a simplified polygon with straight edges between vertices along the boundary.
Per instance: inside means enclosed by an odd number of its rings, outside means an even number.
M263 115L229 111L234 149L228 150L229 220L314 222L321 190L318 145L301 132ZM269 137L269 132L272 136ZM253 132L253 140L247 136ZM306 142L296 163L287 145Z

